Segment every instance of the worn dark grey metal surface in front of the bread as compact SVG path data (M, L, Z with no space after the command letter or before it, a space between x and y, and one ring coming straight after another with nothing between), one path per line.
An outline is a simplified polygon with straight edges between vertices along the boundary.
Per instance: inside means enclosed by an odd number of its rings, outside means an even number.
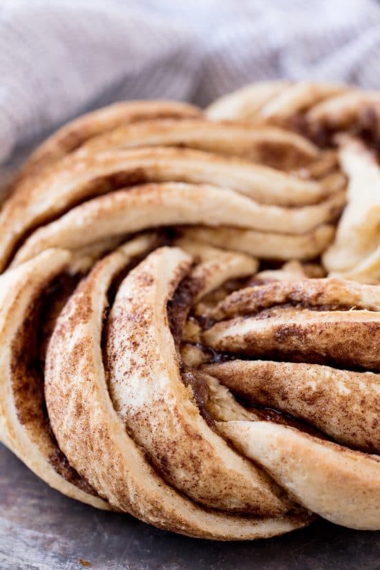
M209 542L50 489L0 445L1 570L379 570L380 532L327 522L257 542Z

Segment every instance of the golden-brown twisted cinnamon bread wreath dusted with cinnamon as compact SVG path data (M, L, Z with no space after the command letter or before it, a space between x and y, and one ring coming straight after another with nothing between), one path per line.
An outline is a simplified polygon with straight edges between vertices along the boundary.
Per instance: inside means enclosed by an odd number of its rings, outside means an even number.
M126 102L0 213L0 436L69 497L242 540L380 529L380 93Z

